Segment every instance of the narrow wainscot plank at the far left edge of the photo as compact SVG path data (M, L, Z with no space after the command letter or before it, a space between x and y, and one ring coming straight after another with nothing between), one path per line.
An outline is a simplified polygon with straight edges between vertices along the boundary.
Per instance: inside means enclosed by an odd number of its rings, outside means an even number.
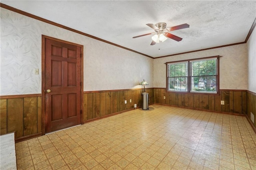
M7 133L7 99L0 100L0 134Z

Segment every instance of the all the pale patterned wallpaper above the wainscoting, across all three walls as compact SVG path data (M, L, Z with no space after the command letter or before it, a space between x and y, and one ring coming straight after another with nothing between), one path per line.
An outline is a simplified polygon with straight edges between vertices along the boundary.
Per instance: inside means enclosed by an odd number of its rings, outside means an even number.
M138 83L143 79L150 84L147 87L165 87L164 63L222 55L220 89L247 89L248 81L248 90L256 92L255 30L247 45L153 60L4 8L1 8L0 15L0 95L41 93L42 35L84 45L84 91L141 88ZM34 68L39 68L39 75L33 74Z

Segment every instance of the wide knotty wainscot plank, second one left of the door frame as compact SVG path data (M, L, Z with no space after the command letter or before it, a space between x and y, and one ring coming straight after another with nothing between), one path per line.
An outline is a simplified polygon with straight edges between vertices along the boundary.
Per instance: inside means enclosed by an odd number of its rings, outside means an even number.
M37 97L24 98L23 104L23 136L36 134L37 130Z

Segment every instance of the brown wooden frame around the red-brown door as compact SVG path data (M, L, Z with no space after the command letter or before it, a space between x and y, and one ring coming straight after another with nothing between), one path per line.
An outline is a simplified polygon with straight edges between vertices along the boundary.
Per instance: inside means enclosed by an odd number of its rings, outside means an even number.
M79 46L81 47L81 82L82 82L82 85L81 85L81 124L83 123L83 97L84 97L84 45L80 45L80 44L77 44L77 43L72 43L72 42L68 42L68 41L65 41L65 40L60 40L60 39L57 39L57 38L53 38L53 37L49 37L49 36L45 36L45 35L42 35L42 135L45 134L45 131L46 131L46 120L45 120L45 117L46 117L46 105L45 105L45 42L46 42L46 39L49 39L49 40L54 40L54 41L57 41L57 42L62 42L62 43L67 43L67 44L70 44L70 45L76 45L76 46Z

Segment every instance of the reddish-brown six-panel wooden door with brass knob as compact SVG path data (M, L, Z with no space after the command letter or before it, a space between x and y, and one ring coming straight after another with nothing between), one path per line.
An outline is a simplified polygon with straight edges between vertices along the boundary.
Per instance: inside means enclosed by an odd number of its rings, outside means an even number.
M46 133L81 124L81 47L45 39Z

